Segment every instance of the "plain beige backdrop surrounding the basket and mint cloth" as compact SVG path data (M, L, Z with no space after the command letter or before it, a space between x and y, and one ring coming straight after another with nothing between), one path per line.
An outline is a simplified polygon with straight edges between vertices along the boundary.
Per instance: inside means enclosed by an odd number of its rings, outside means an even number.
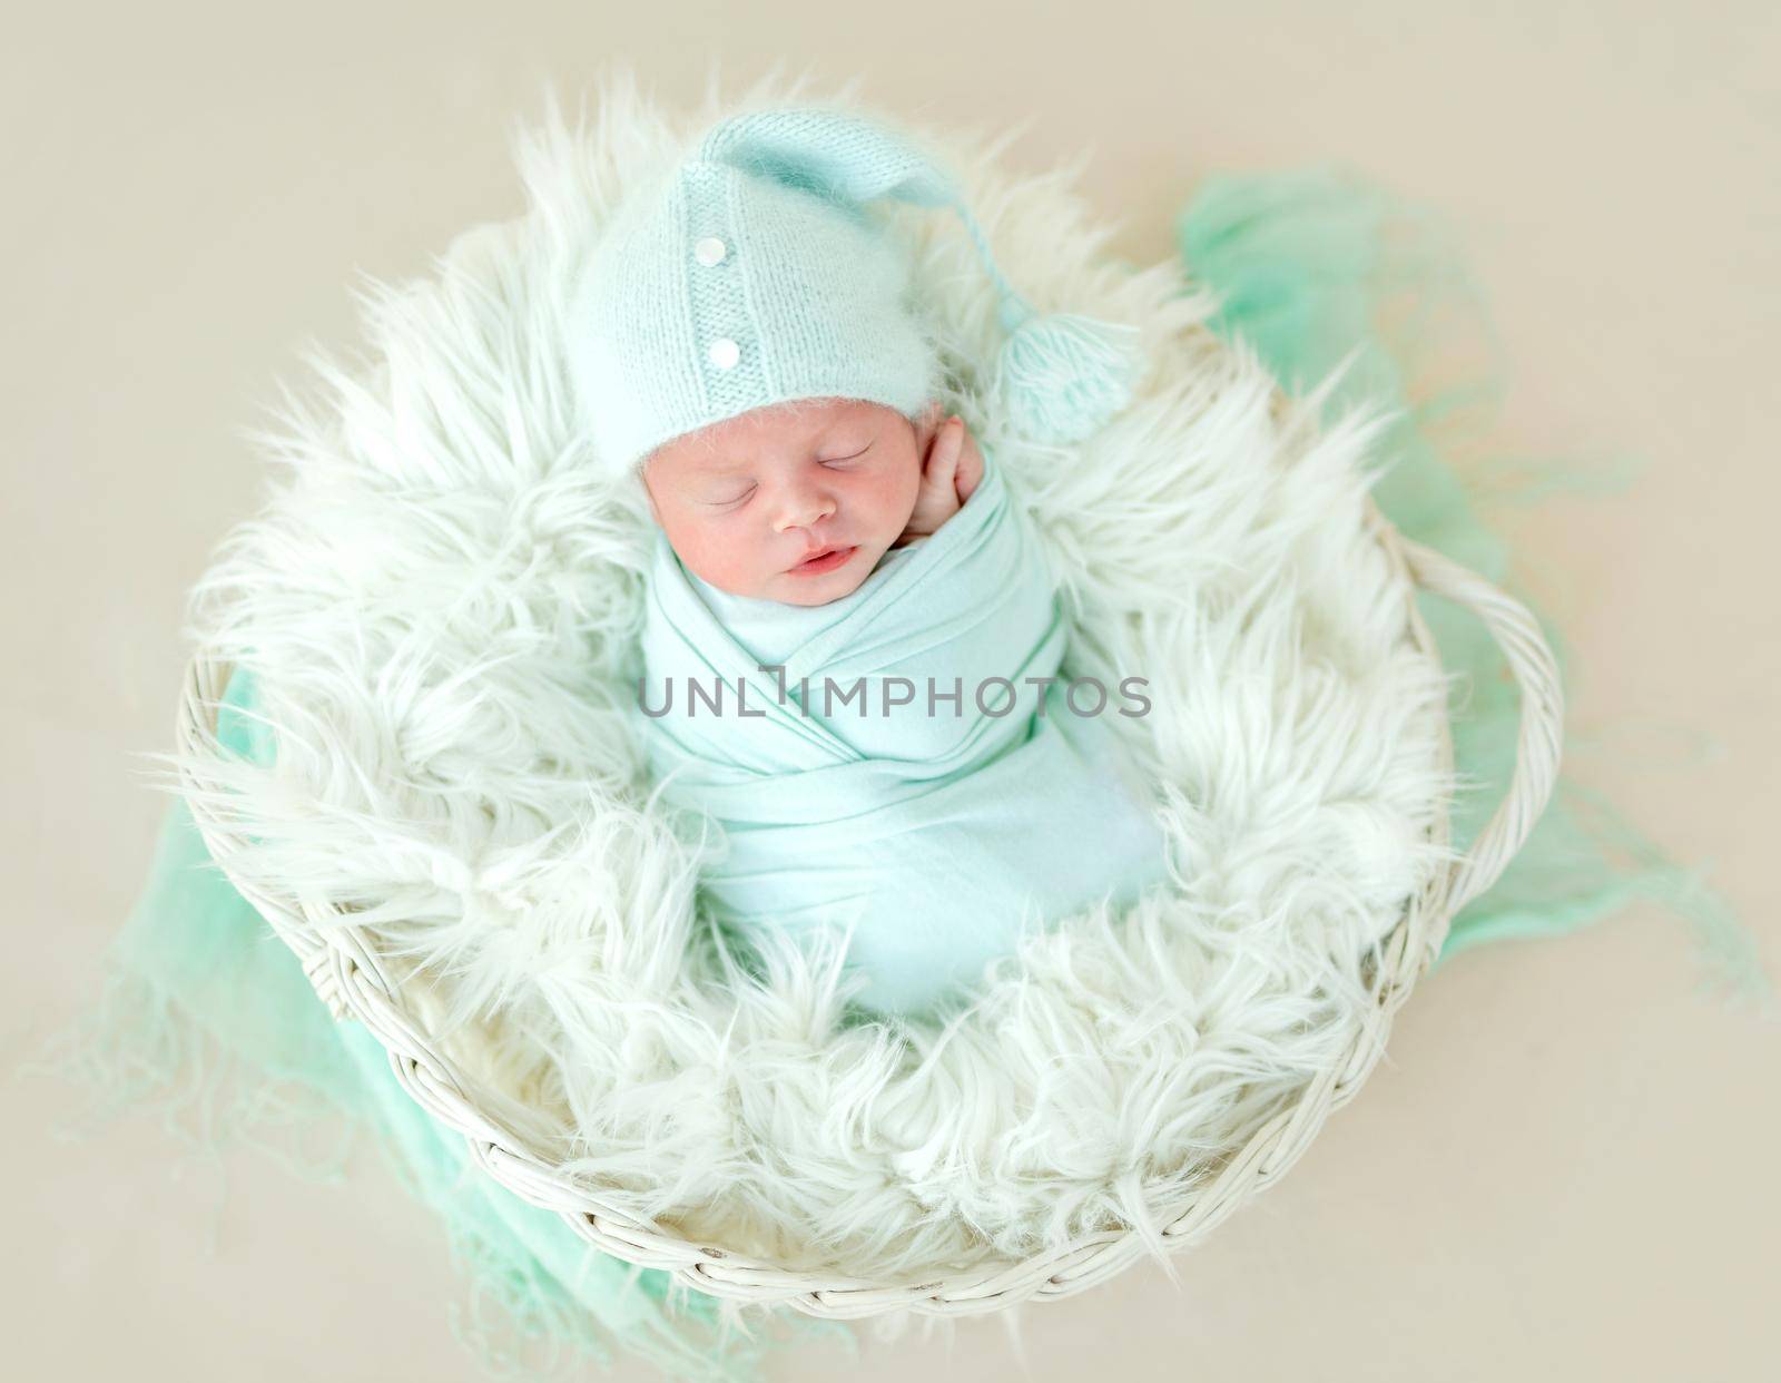
M878 7L873 7L878 9ZM1781 20L1749 5L826 4L30 7L0 57L7 205L0 1057L93 994L162 804L182 599L255 501L239 430L358 273L424 273L518 210L547 78L630 59L862 77L935 119L1090 146L1120 253L1170 253L1197 176L1332 157L1448 212L1512 367L1501 442L1649 458L1605 501L1501 515L1573 640L1574 772L1761 932L1781 971L1774 593ZM1530 14L1535 7L1523 7ZM48 18L53 11L53 18ZM255 12L258 11L258 12ZM1704 752L1703 752L1704 750ZM1293 1174L1179 1258L1031 1310L1031 1376L1671 1379L1776 1367L1781 1034L1697 987L1653 909L1460 957ZM7 1087L0 1267L20 1378L458 1379L459 1280L376 1166L248 1155L210 1189L146 1119L46 1126ZM834 1378L841 1354L784 1360ZM1012 1378L1003 1330L869 1349L866 1378ZM618 1376L645 1378L647 1371Z

